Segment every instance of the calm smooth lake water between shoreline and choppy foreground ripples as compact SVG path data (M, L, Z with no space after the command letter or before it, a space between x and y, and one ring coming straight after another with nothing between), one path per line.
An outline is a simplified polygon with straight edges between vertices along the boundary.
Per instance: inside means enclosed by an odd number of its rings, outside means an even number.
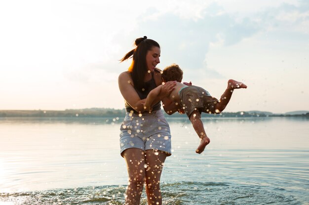
M309 185L308 119L203 118L211 143L200 155L189 119L167 120L173 152L163 182L237 181L300 192ZM1 119L0 192L126 184L121 122L120 117Z

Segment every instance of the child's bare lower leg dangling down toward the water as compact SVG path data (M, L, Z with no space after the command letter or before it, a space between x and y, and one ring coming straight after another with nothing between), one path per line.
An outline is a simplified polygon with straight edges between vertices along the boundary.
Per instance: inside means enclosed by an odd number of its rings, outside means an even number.
M193 111L193 113L190 115L190 121L193 125L193 128L198 137L200 138L200 144L195 150L195 152L198 154L202 153L205 149L205 146L210 143L210 139L207 137L205 133L204 125L200 117L201 116L198 111Z

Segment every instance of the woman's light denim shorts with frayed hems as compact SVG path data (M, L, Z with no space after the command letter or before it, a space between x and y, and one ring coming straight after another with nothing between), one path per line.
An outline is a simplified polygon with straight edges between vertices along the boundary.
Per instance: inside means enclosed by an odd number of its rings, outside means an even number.
M120 154L128 148L154 149L171 155L171 132L162 110L146 114L126 112L120 127Z

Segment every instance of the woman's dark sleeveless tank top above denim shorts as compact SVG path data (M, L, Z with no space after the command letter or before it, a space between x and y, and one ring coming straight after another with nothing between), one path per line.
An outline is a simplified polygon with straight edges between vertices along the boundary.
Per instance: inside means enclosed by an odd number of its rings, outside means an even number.
M152 73L152 79L145 82L145 90L138 90L134 87L134 89L136 90L138 96L140 97L140 99L145 99L147 98L147 95L149 94L149 92L156 88L156 84L155 84L155 81L154 81L154 73ZM126 112L131 112L133 111L134 114L139 114L138 112L136 112L126 101L124 101L124 107L125 107L125 111ZM157 102L154 107L153 107L153 111L156 111L156 110L160 110L161 109L161 102ZM145 111L145 112L148 112L148 111ZM144 112L142 112L144 113Z

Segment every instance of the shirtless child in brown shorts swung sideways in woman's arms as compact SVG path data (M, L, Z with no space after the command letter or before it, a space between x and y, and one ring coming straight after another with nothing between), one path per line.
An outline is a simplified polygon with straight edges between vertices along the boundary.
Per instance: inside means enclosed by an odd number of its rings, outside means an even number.
M193 128L201 141L195 152L200 154L204 151L205 146L210 143L201 120L201 112L209 114L221 113L228 105L233 90L247 88L247 86L241 82L229 80L228 88L222 94L220 100L218 100L212 97L209 92L203 88L182 84L182 78L183 71L177 64L172 64L163 70L163 82L177 81L176 86L169 94L168 98L175 102L176 105L181 106L181 109L178 112L181 113L181 110L183 109L192 122ZM153 106L154 99L157 95L159 95L162 86L163 85L160 85L154 88L148 94L144 104L145 110L151 110L150 108ZM167 112L167 114L172 115L173 112Z

